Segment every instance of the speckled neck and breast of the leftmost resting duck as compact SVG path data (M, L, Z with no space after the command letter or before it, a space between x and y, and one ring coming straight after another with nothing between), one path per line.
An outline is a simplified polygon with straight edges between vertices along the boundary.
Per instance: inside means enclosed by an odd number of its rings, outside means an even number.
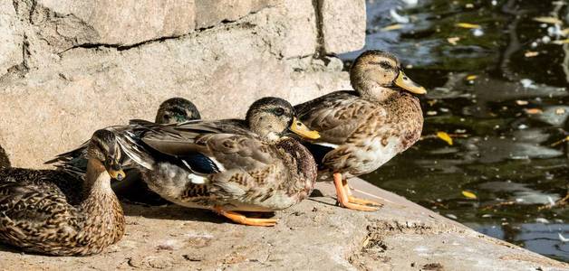
M90 159L87 164L84 201L81 204L85 216L86 232L105 232L107 242L113 244L124 232L124 215L121 203L111 189L111 176L104 165L97 159Z

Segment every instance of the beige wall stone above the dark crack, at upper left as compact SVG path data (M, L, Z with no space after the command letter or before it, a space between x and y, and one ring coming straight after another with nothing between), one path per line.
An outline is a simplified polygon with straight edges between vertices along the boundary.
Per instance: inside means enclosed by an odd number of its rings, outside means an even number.
M76 44L131 45L195 28L193 0L37 0L33 23ZM57 39L58 37L52 37Z

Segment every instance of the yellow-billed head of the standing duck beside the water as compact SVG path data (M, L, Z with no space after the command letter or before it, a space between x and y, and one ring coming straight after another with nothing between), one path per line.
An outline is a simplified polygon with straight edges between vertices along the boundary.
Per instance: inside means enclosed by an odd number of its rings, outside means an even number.
M350 70L352 87L362 98L384 100L395 91L425 94L427 90L413 82L391 53L379 50L364 51Z

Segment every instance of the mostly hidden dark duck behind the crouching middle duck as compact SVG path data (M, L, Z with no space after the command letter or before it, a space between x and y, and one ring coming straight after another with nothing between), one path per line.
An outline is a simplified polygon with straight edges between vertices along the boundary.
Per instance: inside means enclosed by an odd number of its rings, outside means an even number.
M160 103L155 117L155 123L175 124L188 120L200 119L198 107L186 98L169 98ZM61 154L45 164L53 164L55 167L82 175L87 166L87 148L89 141L82 147L72 152ZM159 195L149 191L145 182L141 182L140 173L136 169L125 168L127 178L121 182L111 181L112 190L121 198L133 203L147 205L164 205L169 201L164 201Z

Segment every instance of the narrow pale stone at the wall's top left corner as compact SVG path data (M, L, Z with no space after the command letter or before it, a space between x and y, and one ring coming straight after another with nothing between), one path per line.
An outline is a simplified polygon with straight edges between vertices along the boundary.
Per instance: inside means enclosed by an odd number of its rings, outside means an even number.
M23 61L23 34L12 1L0 0L0 77Z

